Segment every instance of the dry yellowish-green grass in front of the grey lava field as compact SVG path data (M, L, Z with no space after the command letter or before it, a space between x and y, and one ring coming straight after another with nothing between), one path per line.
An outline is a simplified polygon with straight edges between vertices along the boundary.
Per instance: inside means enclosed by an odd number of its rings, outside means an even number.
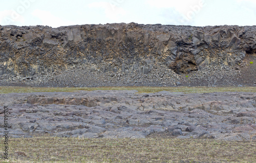
M3 148L1 143L1 149ZM256 162L256 142L193 139L10 139L9 160L0 161Z

